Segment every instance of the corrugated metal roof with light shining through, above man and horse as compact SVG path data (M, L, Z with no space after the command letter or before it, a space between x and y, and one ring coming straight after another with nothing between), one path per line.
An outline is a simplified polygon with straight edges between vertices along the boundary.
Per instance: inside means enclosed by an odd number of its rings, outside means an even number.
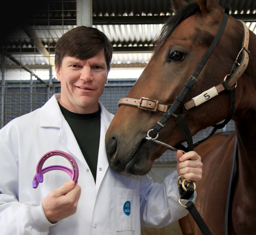
M222 7L229 7L232 16L245 21L251 20L247 22L247 26L256 32L255 0L219 0L218 2ZM129 67L147 64L151 55L149 51L152 40L160 32L164 20L172 14L171 1L93 0L92 3L93 26L103 31L114 47L113 66ZM15 30L8 34L2 49L4 48L22 65L48 65L49 57L42 56L38 52L37 40L50 52L50 57L53 57L54 46L59 37L76 27L76 1L33 1L31 7L33 10L30 9L30 14L25 15L22 20L26 22L26 26L22 24L19 29L13 27ZM18 23L13 25L18 26ZM35 37L28 36L31 31L36 35Z

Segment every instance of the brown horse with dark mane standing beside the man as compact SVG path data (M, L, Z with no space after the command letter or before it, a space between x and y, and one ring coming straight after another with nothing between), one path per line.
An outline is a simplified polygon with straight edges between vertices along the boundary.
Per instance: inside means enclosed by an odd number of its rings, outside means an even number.
M157 101L173 104L211 45L224 18L224 11L215 0L197 0L190 4L173 0L173 6L176 15L166 22L152 58L128 94L128 97L136 98L135 103L140 97L148 97L155 100L148 101L155 108ZM182 104L221 83L230 73L241 50L243 30L241 22L228 17L224 32L196 83L159 131L159 141L176 146L185 140L175 116L184 116ZM249 64L236 86L232 117L236 131L230 135L215 134L195 149L204 164L203 179L197 187L196 206L214 235L224 234L225 206L236 137L238 154L233 178L235 187L230 199L229 234L255 234L256 35L252 32L248 49L251 52ZM192 135L228 116L229 96L229 92L223 91L186 112L184 119ZM142 100L138 106L140 102ZM153 112L154 108L149 112L141 107L119 107L106 134L109 164L114 171L147 174L152 162L167 150L167 147L145 139L148 130L153 129L163 117L163 112L158 111L160 106L162 104L159 103L156 112ZM201 234L189 215L183 218L181 227L184 234Z

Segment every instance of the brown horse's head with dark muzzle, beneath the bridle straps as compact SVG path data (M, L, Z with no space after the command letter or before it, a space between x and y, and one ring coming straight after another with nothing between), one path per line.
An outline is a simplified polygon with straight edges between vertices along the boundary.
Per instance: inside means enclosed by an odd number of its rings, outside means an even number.
M197 0L190 4L182 0L172 2L176 14L163 26L147 67L127 96L135 98L134 102L146 97L141 101L149 101L154 105L158 102L172 105L200 64L222 24L224 11L215 0ZM182 104L223 81L241 50L242 40L242 24L228 17L226 28L198 75L197 82L159 131L158 140L172 146L185 140L175 116L184 113ZM239 89L236 97L238 100L241 99ZM209 100L207 105L193 108L183 116L194 135L225 119L228 107L229 95L223 92ZM144 110L142 107L128 105L119 107L105 140L109 165L115 172L143 175L150 171L153 161L167 150L167 147L145 139L148 131L154 129L162 117L163 112L159 110Z

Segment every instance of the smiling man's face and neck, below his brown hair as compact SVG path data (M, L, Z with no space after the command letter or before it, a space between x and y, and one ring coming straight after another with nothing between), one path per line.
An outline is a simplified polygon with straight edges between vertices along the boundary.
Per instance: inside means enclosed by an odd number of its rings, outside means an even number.
M98 100L108 77L104 50L84 61L66 56L61 67L56 67L56 73L61 82L59 103L64 108L79 114L98 110Z

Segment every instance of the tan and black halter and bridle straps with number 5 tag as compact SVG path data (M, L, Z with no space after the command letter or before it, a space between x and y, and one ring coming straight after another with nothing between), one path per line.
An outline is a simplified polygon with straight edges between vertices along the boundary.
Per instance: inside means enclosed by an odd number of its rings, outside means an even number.
M161 130L162 127L165 126L166 121L171 116L174 116L176 118L176 123L178 123L178 125L180 126L180 128L186 138L187 144L188 144L187 148L185 148L183 145L179 145L179 147L181 149L183 149L184 151L192 151L194 147L196 147L197 145L202 143L204 140L208 139L210 136L212 136L215 133L215 131L217 129L223 128L224 125L226 125L226 123L228 123L228 121L230 121L230 119L232 118L232 116L234 114L234 110L235 110L236 82L239 79L239 77L241 77L241 75L245 71L245 69L247 68L247 65L249 62L249 53L250 53L248 50L249 29L246 26L246 24L242 21L240 21L243 24L243 28L244 28L242 49L241 49L241 51L239 51L236 61L234 62L230 73L228 75L226 75L226 77L224 78L224 81L222 83L218 84L217 86L213 86L211 89L203 92L202 94L198 95L197 97L194 97L193 99L191 99L191 101L188 101L184 105L180 106L180 103L183 101L184 97L187 95L189 90L192 88L193 84L195 84L195 82L197 81L197 77L198 77L199 73L201 72L201 70L204 67L204 65L206 64L206 62L208 61L211 53L213 52L215 46L217 45L219 39L221 38L221 35L223 34L223 31L226 27L227 21L228 21L228 15L226 13L224 13L223 21L221 23L219 31L217 32L215 38L213 39L213 42L211 43L210 47L206 51L204 57L202 58L199 65L197 66L193 75L191 75L189 77L189 79L187 80L187 83L184 85L182 92L180 92L180 94L176 97L176 99L174 100L172 105L163 104L157 100L148 99L145 97L141 97L140 99L123 97L120 99L118 106L130 105L130 106L137 106L138 108L150 110L150 111L154 111L154 112L156 112L156 111L164 112L163 117L157 122L156 127L154 127L154 129L150 129L148 131L148 134L146 137L147 140L154 141L156 143L159 143L161 145L168 147L169 149L171 149L173 151L177 151L176 148L174 148L170 145L167 145L166 143L156 140L158 138L158 132ZM227 78L228 78L228 81L226 80ZM209 99L215 97L216 95L218 95L220 92L222 92L224 90L228 90L230 92L230 112L229 112L228 117L226 118L226 120L223 123L213 126L214 129L208 137L193 144L192 135L191 135L191 132L190 132L190 130L187 126L187 123L184 119L184 116L182 116L182 115L177 116L176 114L174 114L174 112L177 110L178 107L180 107L183 109L184 113L186 113L187 110L190 110L191 108L208 101ZM153 134L155 134L156 137L155 138L150 137L150 132L153 132Z

